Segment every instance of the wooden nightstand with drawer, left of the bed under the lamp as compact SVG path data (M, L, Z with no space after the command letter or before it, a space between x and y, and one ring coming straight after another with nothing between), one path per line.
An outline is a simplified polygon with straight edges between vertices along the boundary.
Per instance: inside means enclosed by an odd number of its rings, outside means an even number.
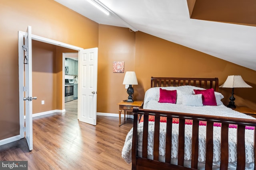
M134 101L134 102L120 102L119 105L119 126L121 125L121 113L124 110L124 119L126 111L132 111L134 107L138 107L139 109L143 106L143 101Z

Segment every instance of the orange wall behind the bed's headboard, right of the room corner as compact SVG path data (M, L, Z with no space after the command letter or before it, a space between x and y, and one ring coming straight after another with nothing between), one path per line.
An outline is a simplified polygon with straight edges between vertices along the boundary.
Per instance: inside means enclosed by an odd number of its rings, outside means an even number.
M228 75L241 75L253 88L236 88L234 101L237 106L256 110L256 71L233 64L211 55L172 43L152 35L136 32L135 72L138 85L135 98L142 100L150 88L150 77L218 77L223 84ZM228 104L231 89L219 88Z

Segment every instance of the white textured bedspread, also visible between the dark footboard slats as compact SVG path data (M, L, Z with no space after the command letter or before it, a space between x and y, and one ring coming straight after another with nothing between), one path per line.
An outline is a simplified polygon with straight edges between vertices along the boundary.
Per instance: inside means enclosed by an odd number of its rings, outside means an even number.
M175 111L183 113L196 113L204 115L216 115L225 117L238 117L246 119L255 119L249 115L234 111L224 105L220 106L182 106L180 104L165 104L158 103L157 100L150 100L146 104L144 109L162 110L162 111ZM173 123L172 127L172 158L178 157L178 124ZM148 133L148 155L153 155L153 145L154 145L154 122L149 122L149 133ZM142 130L143 123L138 125L138 152L142 152ZM214 155L213 161L220 161L220 127L214 126ZM236 162L236 128L229 128L228 138L229 138L229 162ZM131 149L132 149L132 131L130 130L126 136L125 144L122 150L122 158L128 163L132 161L131 159ZM245 147L246 147L246 163L254 162L254 130L245 130ZM159 154L160 156L165 155L165 141L166 141L166 123L160 123L160 146ZM185 160L191 160L191 150L192 150L192 125L185 125ZM206 126L199 127L199 158L200 162L205 161L206 153ZM162 160L161 160L162 161ZM163 160L164 161L164 160Z

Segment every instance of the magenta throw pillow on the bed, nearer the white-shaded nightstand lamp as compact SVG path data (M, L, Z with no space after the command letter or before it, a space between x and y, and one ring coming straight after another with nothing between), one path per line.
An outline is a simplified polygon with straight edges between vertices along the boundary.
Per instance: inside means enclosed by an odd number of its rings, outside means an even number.
M165 90L160 88L159 103L176 104L177 90Z

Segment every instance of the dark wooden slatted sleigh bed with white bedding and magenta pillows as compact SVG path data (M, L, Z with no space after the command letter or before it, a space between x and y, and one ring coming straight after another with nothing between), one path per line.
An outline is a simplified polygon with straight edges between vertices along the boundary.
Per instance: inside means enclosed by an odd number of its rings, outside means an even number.
M165 92L175 90L175 103L166 103ZM205 104L206 92L214 94L213 106ZM143 109L133 110L122 157L133 170L255 170L256 119L224 106L222 98L218 78L152 77Z

